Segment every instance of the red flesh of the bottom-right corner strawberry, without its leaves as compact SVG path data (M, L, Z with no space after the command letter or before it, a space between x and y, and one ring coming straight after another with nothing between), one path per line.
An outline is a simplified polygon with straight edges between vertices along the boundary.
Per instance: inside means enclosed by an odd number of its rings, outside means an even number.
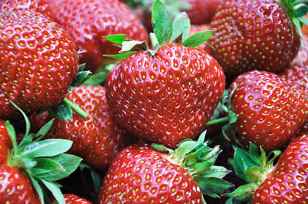
M252 197L252 203L305 203L308 200L308 136L295 138ZM285 202L286 201L286 202Z

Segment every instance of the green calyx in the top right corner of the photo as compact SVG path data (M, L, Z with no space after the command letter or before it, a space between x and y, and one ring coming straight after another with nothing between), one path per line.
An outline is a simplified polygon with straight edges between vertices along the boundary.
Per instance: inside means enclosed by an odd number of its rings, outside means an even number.
M308 25L308 19L303 18L302 16L307 15L308 13L308 1L307 0L278 0L278 2L284 7L288 13L292 23L296 27L297 33L301 38L301 26L303 24Z

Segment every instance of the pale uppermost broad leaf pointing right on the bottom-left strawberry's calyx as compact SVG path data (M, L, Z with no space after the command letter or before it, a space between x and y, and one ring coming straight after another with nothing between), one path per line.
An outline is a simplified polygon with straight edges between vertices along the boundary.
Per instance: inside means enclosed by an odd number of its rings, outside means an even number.
M63 139L47 139L31 143L19 148L18 153L22 157L50 157L66 152L70 149L72 141Z

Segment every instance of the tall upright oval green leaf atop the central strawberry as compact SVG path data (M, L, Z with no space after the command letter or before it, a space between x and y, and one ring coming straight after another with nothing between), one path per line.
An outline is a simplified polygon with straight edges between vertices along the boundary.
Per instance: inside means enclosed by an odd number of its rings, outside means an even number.
M160 45L169 43L172 37L172 20L165 5L156 0L152 11L152 26Z

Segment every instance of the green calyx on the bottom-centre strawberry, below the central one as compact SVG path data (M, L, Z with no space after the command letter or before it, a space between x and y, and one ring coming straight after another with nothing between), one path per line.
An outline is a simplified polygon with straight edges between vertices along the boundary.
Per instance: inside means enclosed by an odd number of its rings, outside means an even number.
M204 138L205 132L200 135L198 141L184 140L175 150L159 144L152 144L152 147L168 152L165 156L169 161L185 168L200 186L202 194L219 197L217 194L233 187L233 184L222 180L230 171L222 166L214 166L221 150L219 146L208 147Z

